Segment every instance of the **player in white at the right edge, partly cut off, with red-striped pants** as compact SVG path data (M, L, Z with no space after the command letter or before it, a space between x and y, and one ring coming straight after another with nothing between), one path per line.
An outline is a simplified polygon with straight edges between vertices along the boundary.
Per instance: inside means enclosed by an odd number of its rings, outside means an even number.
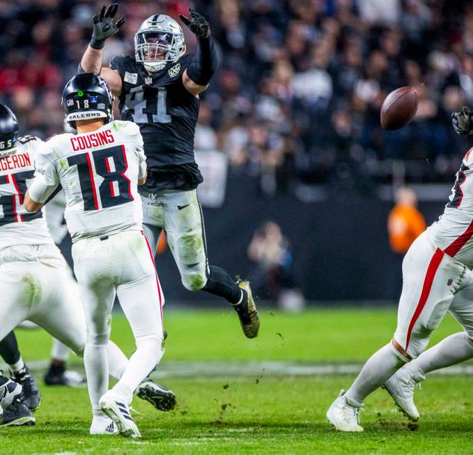
M453 114L453 126L457 132L462 133L460 123L465 132L472 132L471 112L464 110L463 115L456 114ZM442 368L473 357L472 236L473 149L470 149L460 165L444 213L414 241L405 255L394 338L370 357L350 389L342 390L327 411L327 419L337 430L363 431L359 410L364 406L364 398L385 382L401 409L404 406L408 417L417 420L417 410L408 408L408 394L413 392L416 380L421 379L415 376L419 373L417 366L423 365L424 371L420 373L425 373L430 368ZM431 333L447 311L464 331L435 345L421 359ZM411 371L405 364L418 356ZM412 375L414 380L410 380Z

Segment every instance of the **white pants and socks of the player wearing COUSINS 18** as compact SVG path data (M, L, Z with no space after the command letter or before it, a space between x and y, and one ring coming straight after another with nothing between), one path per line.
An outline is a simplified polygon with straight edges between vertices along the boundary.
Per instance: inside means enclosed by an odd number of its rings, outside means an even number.
M84 354L87 384L94 415L108 390L104 348L110 334L115 295L130 322L137 350L113 390L130 403L132 394L160 361L163 349L164 297L153 255L143 232L127 230L72 245L74 270L84 304L87 343Z

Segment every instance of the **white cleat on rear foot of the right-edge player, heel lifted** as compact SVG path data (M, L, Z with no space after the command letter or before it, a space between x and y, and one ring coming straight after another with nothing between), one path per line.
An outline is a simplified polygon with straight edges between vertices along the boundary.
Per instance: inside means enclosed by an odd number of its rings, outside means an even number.
M417 422L421 417L414 404L414 388L425 378L425 375L415 375L408 368L400 368L381 386L391 395L399 410L412 422Z

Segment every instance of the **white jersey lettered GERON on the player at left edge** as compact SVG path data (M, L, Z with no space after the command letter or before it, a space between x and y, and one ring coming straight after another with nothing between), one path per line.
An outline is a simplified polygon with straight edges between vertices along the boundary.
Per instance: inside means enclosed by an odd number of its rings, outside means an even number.
M52 244L42 213L30 214L23 206L40 144L38 137L20 137L16 153L0 158L0 250L14 245Z

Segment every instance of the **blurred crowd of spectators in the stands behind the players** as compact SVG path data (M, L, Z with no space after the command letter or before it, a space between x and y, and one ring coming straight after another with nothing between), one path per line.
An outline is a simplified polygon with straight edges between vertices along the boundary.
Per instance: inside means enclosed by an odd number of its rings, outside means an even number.
M63 125L61 90L74 75L104 1L0 0L0 100L40 137ZM219 150L233 173L274 195L298 184L370 191L451 181L472 141L450 115L473 105L473 4L465 0L118 1L127 22L105 59L132 54L155 13L206 15L220 66L202 97L196 149ZM194 37L185 30L187 49ZM389 91L413 85L414 121L385 132ZM397 164L396 164L397 163Z

